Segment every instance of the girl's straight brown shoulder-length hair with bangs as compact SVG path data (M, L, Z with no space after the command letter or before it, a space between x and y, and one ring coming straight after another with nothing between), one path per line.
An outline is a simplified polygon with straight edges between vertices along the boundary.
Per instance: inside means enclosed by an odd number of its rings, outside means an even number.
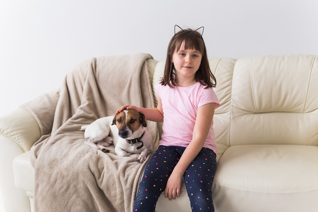
M216 79L209 66L207 51L203 38L198 31L189 28L182 29L171 38L167 50L164 77L160 81L161 84L169 85L170 87L177 85L174 77L174 66L171 62L171 58L173 53L181 48L182 43L184 43L185 49L196 49L202 54L201 64L195 74L195 80L200 82L202 85L205 85L206 88L215 87Z

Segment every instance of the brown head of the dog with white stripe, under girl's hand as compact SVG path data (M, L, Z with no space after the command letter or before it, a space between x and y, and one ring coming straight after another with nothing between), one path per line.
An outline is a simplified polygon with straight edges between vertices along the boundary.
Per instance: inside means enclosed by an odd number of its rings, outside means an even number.
M136 110L124 110L118 113L115 115L112 125L117 126L119 137L130 139L134 139L132 137L134 132L138 132L142 127L147 127L145 115Z

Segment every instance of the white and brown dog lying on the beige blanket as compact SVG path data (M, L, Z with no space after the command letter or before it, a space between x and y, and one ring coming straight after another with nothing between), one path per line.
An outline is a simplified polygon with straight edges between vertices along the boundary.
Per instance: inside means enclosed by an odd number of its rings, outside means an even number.
M85 144L108 153L107 146L114 143L117 156L139 154L137 160L143 163L152 153L152 138L147 130L145 115L136 110L123 110L112 118L102 117L90 125L82 126L85 130Z

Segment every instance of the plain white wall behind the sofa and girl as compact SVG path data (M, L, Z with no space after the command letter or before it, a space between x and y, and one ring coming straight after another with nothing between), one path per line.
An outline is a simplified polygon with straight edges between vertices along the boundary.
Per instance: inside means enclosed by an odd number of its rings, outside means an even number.
M205 26L208 56L318 54L316 0L0 1L0 115L94 56L163 60L174 24Z

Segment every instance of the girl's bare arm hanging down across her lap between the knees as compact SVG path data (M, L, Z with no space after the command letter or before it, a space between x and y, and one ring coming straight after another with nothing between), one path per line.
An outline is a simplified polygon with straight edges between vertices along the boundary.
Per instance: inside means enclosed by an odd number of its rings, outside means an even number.
M179 162L173 169L165 190L165 196L175 199L180 195L182 177L190 163L197 157L206 140L214 115L215 103L198 108L192 141L185 148Z

